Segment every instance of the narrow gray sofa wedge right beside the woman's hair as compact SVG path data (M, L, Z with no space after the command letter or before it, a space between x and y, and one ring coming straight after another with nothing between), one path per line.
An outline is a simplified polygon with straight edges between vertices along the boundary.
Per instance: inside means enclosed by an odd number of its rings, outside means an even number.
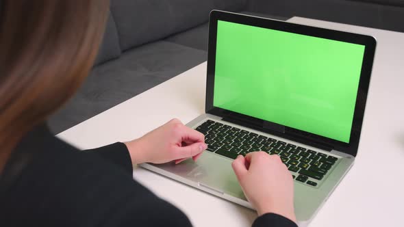
M121 55L121 47L119 46L118 31L116 31L114 18L112 18L110 14L108 16L107 25L105 26L103 41L99 46L99 52L94 65L115 59L119 57L119 55Z

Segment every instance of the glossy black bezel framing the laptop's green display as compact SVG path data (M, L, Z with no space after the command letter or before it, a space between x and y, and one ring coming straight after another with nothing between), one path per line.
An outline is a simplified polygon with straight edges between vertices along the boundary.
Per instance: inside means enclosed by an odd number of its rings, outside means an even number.
M353 115L353 123L351 127L351 137L349 143L340 142L338 140L330 139L313 133L307 133L305 131L294 129L288 126L284 126L284 131L282 132L270 131L266 129L264 125L273 124L273 122L253 118L251 116L246 116L240 113L229 111L227 109L214 107L213 105L214 72L216 64L216 35L217 35L218 20L364 45L365 46L364 60L362 63L362 70L359 78L359 87L357 90L357 100L355 103L355 111ZM248 122L252 123L251 128L253 129L273 133L277 136L284 137L287 139L294 139L297 142L301 142L303 144L307 144L310 146L316 146L318 148L323 148L326 150L332 150L332 149L338 150L340 152L345 152L346 154L353 155L355 157L357 155L357 148L359 146L359 137L362 130L362 122L364 119L364 110L366 106L366 99L370 83L370 75L373 67L373 58L375 55L375 49L376 49L376 40L372 36L365 36L345 31L323 29L319 27L298 25L294 23L286 23L283 21L275 21L267 18L260 18L255 16L247 16L231 12L213 10L210 13L210 20L209 20L205 112L207 114L214 114L216 116L220 116L225 119L245 118L248 119Z

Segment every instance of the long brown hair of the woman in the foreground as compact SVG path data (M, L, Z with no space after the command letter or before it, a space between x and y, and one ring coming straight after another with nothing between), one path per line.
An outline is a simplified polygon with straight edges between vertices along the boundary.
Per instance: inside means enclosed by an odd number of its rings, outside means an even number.
M0 0L0 172L86 78L107 13L107 0Z

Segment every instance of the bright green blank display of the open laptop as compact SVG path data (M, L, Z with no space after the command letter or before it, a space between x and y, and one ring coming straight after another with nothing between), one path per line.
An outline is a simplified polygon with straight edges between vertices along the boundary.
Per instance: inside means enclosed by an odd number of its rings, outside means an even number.
M214 106L349 143L364 46L218 21Z

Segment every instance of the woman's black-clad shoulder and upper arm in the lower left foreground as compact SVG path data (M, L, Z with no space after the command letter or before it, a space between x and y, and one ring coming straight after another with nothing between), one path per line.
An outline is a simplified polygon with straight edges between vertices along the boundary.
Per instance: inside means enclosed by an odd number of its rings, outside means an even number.
M8 217L0 226L7 220L14 226L190 225L181 211L94 152L56 138L43 145L0 195Z

